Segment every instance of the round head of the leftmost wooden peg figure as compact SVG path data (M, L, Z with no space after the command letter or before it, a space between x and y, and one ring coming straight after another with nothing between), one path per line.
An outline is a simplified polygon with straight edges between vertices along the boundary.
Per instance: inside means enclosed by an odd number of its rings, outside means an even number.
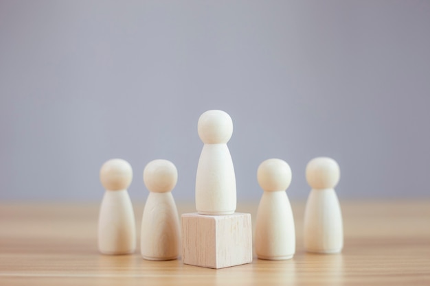
M132 179L133 169L126 160L108 160L100 169L100 182L102 182L104 189L109 191L127 189Z

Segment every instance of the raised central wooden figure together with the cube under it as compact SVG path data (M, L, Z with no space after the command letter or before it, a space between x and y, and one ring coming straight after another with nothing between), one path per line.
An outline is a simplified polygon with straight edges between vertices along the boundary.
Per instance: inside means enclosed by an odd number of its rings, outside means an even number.
M236 177L227 142L231 117L222 110L204 112L197 124L205 145L196 174L197 213L182 215L182 262L223 268L252 261L249 213L236 211Z

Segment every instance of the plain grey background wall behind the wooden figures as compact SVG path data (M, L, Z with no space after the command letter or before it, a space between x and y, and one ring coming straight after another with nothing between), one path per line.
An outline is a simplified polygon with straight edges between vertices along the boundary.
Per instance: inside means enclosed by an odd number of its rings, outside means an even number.
M234 121L238 200L314 156L343 199L429 198L430 1L0 1L0 199L97 201L109 158L172 160L194 200L202 112Z

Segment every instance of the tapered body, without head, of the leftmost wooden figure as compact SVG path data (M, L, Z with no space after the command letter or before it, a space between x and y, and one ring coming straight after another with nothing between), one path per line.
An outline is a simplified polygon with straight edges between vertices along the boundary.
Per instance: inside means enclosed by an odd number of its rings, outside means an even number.
M98 249L104 254L136 250L136 224L127 190L106 191L100 207Z

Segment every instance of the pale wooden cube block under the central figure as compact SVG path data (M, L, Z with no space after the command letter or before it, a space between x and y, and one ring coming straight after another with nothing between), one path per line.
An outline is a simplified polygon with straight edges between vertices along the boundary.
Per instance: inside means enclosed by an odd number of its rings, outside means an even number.
M252 226L249 213L182 215L182 262L223 268L252 261Z

